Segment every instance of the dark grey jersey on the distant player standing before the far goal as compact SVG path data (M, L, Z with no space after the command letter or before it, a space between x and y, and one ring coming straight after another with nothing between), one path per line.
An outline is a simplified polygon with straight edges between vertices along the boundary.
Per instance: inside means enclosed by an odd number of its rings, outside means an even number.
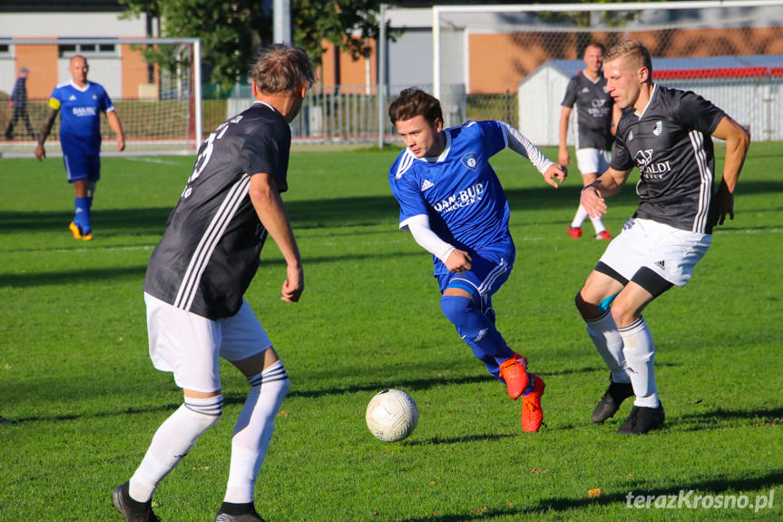
M583 73L573 76L565 89L563 107L576 105L574 137L577 149L612 150L612 96L603 75L593 82Z

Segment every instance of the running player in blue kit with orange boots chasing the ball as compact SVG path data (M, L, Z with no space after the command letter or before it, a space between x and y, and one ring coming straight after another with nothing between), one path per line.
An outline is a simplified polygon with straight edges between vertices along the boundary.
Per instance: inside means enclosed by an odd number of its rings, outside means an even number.
M444 129L440 103L420 89L400 93L389 117L406 144L389 170L400 229L433 254L445 317L490 374L504 381L509 396L522 397L524 431L537 431L543 379L527 372L526 359L494 326L492 296L511 274L516 250L508 202L489 158L509 147L555 188L565 169L506 123L468 121Z

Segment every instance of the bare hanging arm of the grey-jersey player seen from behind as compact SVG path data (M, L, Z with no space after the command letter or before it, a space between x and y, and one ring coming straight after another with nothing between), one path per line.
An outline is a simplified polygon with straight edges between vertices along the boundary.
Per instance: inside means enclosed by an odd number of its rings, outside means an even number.
M286 281L280 299L296 302L305 290L305 275L289 215L272 174L259 172L250 178L250 202L286 260Z

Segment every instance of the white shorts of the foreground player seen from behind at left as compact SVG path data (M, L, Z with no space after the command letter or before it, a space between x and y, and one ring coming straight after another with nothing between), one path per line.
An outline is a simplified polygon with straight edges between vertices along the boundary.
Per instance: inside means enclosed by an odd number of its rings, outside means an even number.
M180 310L144 292L150 359L155 368L174 373L181 389L209 393L220 389L220 357L247 359L269 349L267 332L242 300L235 315L209 320Z

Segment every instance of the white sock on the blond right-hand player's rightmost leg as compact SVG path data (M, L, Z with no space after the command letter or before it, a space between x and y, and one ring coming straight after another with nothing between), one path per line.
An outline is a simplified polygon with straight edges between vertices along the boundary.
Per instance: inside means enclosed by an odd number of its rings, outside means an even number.
M631 370L631 384L636 399L634 406L658 408L658 388L655 386L655 345L644 318L618 329L622 336L623 353Z

